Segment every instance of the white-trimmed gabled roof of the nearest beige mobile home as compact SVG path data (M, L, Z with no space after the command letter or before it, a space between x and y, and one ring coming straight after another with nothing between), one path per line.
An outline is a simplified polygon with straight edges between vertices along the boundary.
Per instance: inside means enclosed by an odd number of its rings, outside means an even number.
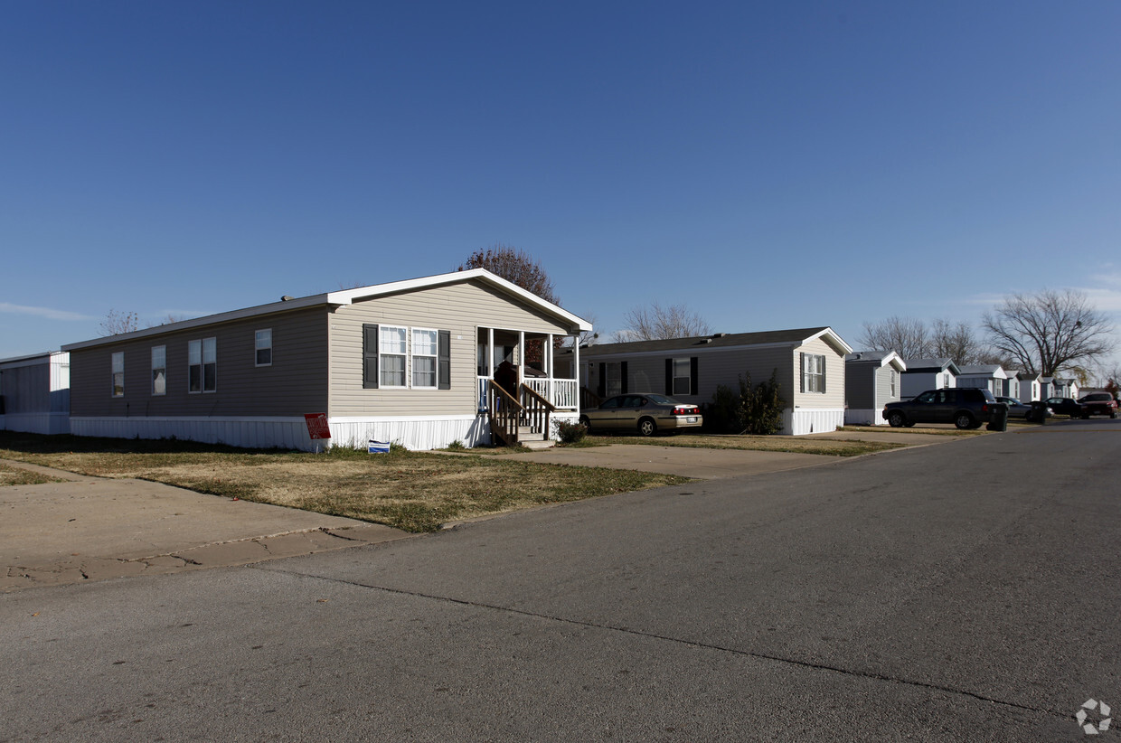
M502 294L506 294L512 298L519 299L528 305L536 307L546 315L560 318L571 326L573 333L592 329L591 323L581 317L577 317L576 315L573 315L568 310L563 309L557 305L554 305L552 301L546 301L545 299L541 299L537 295L526 291L516 284L511 284L510 281L507 281L502 277L491 273L484 268L473 268L467 271L452 271L451 273L438 273L436 276L426 276L418 279L408 279L405 281L391 281L389 284L374 284L368 287L359 287L356 289L328 291L326 294L316 294L309 297L281 299L280 301L274 301L268 305L258 305L257 307L234 309L228 313L219 313L217 315L206 315L205 317L195 317L193 319L185 319L178 323L168 323L167 325L157 325L156 327L147 327L143 328L142 331L133 331L132 333L122 333L120 335L110 335L103 338L83 341L81 343L71 343L68 345L64 345L63 351L89 349L92 346L103 345L106 343L131 341L133 338L142 338L150 335L159 335L163 333L172 333L175 331L185 331L192 327L214 325L216 323L228 323L237 319L257 317L258 315L274 315L277 313L294 312L297 309L306 309L307 307L316 307L321 305L330 307L341 307L343 305L354 304L355 301L372 299L373 297L381 297L386 295L398 294L401 291L416 291L418 289L429 289L433 287L446 286L450 284L462 284L471 280L485 284L501 291Z

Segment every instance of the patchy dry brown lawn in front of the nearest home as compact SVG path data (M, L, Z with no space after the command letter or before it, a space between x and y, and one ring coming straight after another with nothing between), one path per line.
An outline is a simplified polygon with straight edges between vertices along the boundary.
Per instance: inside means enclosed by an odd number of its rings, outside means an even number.
M189 442L0 433L0 458L432 531L448 521L687 482L648 472L396 449L247 452Z

